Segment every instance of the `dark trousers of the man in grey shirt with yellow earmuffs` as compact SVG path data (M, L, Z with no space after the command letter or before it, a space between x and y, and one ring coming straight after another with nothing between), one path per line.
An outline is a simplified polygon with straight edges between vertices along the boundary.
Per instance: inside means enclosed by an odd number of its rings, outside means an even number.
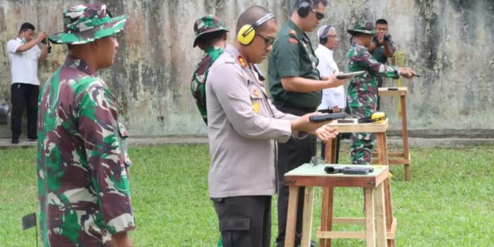
M224 247L270 247L271 195L212 198Z

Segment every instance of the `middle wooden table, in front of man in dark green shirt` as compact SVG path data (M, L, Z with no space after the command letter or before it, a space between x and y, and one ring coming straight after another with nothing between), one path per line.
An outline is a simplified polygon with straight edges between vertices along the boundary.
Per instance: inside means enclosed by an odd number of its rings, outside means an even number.
M328 124L330 127L337 127L339 133L375 133L376 135L376 148L378 155L378 164L389 164L389 159L387 156L387 141L386 141L386 130L389 126L388 119L385 119L382 123L357 123L357 119L345 119L347 121L352 120L351 123L338 123L338 121L332 121ZM335 164L335 153L336 153L336 140L332 139L326 145L325 157L329 164ZM389 180L385 182L385 195L386 195L386 214L387 221L386 227L387 231L391 232L393 221L390 220L393 217L392 205L391 205L391 190ZM323 208L321 212L321 231L330 231L332 228L332 197L333 188L323 188ZM394 246L394 234L391 234L392 238L388 239L388 246ZM331 246L331 239L326 239L321 241L321 247Z

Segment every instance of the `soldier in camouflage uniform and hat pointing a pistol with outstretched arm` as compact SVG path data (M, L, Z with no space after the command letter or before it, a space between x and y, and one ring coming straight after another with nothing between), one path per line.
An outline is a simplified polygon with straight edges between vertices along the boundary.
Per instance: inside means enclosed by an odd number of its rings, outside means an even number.
M378 100L378 83L376 76L397 79L399 76L411 78L416 73L411 68L395 68L376 61L368 52L376 31L372 23L360 23L348 30L353 36L354 44L347 56L349 71L366 71L362 76L352 78L349 83L347 101L352 116L363 118L371 116ZM353 164L370 164L375 135L371 133L353 133L351 135L351 162Z

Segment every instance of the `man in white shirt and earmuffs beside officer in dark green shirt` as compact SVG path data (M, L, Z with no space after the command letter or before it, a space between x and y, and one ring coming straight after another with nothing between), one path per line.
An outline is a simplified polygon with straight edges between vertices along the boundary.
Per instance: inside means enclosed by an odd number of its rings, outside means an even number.
M319 64L318 71L321 77L331 76L332 74L339 73L338 66L333 59L333 50L337 47L339 38L335 27L331 25L323 25L318 29L319 45L318 49L315 49L315 56L318 56ZM345 97L344 85L340 85L336 88L323 89L323 99L318 107L320 112L337 113L344 112L344 108L347 106L347 98ZM339 140L340 135L337 137L337 155L336 162L338 163L339 153ZM325 156L325 143L321 148L321 157Z

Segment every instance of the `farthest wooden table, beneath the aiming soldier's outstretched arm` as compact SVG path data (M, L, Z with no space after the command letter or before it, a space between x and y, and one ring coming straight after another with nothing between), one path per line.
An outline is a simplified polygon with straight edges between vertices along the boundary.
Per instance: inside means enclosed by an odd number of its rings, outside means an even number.
M405 181L410 181L410 162L411 155L408 145L408 128L406 125L406 94L408 89L405 87L397 88L397 90L390 90L390 88L379 88L379 96L398 96L400 103L400 110L402 112L402 140L403 140L403 152L392 152L389 154L390 164L404 164L405 169Z

